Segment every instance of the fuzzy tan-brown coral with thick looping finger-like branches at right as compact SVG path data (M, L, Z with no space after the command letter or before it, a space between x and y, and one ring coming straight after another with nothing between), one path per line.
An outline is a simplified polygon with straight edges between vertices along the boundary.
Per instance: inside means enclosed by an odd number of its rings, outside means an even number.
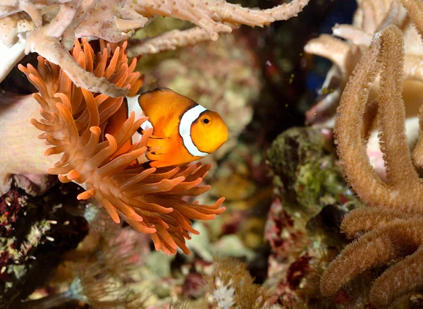
M374 281L370 301L376 307L423 286L423 181L412 165L405 137L404 58L402 32L393 25L378 32L345 87L335 126L345 178L372 208L345 217L342 230L349 238L365 234L331 262L321 277L321 292L329 296L364 270L404 257ZM367 100L378 75L377 120L386 183L366 153Z

